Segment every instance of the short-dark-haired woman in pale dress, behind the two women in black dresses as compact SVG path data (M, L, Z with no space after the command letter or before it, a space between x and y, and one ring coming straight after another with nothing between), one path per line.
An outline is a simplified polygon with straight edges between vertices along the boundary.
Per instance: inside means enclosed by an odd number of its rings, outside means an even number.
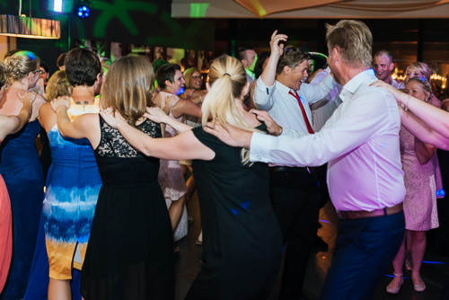
M154 96L153 101L167 115L179 121L182 120L184 115L201 117L201 109L197 104L177 96L181 87L185 84L180 66L162 66L156 72L156 79L161 91ZM176 131L172 127L165 127L163 137L174 137L175 135ZM161 159L159 184L161 184L163 196L167 207L169 207L176 242L187 235L188 229L188 216L185 207L187 188L179 161ZM178 249L175 249L175 251L178 251Z

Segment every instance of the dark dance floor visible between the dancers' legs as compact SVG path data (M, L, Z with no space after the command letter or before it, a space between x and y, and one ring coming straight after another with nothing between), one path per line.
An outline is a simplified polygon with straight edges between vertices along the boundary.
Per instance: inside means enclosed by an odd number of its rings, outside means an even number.
M176 258L176 300L184 299L191 282L197 276L201 264L202 248L195 243L200 230L197 194L189 201L188 209L189 214L194 217L194 221L189 223L189 234L187 237L177 243L180 247L180 253L177 254ZM321 287L330 267L330 262L332 261L339 217L330 202L321 209L320 220L322 227L319 229L318 234L325 242L329 243L329 251L322 252L316 250L312 253L311 259L309 260L304 283L304 293L310 299L318 299L320 297ZM449 257L427 252L424 256L424 261L425 263L423 263L421 268L421 277L427 285L425 292L418 293L414 291L411 280L409 279L410 272L404 269L406 278L404 279L404 284L399 294L387 294L385 287L392 279L388 277L392 274L392 267L390 267L385 270L385 276L379 281L374 290L374 300L438 300L445 281L449 278ZM369 271L369 269L366 269L366 272ZM281 271L279 271L277 282L269 296L269 300L277 299L281 274Z

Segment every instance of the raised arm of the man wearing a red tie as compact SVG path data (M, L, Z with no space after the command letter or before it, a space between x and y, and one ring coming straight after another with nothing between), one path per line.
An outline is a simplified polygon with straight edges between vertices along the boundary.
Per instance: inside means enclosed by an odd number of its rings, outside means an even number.
M257 80L254 96L252 98L254 105L258 110L268 111L273 106L271 98L276 80L277 62L284 52L284 44L279 44L279 42L286 40L287 38L288 37L285 34L277 34L277 31L274 31L271 35L271 41L269 42L269 47L271 49L269 62Z

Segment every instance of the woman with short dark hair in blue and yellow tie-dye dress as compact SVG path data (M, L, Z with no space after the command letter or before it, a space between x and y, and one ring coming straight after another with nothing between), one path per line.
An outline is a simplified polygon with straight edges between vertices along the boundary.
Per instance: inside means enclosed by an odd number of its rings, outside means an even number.
M66 71L60 72L65 72L68 83L50 85L48 93L66 96L67 85L71 84L67 110L71 121L85 113L98 113L96 96L103 78L100 59L90 50L72 49L65 66ZM52 90L57 87L61 94ZM101 178L89 141L63 138L50 103L40 108L40 123L48 133L53 158L42 208L49 264L48 299L71 299L70 280L72 274L79 274L73 269L80 270L83 265ZM75 296L78 290L75 287Z

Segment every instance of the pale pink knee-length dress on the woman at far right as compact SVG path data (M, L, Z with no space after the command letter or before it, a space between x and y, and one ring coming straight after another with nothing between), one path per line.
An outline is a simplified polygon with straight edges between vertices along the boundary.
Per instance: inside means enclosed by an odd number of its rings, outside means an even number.
M439 225L436 186L438 180L441 182L436 154L427 163L420 164L415 154L415 137L404 127L400 131L400 145L406 190L403 204L405 228L414 231L436 228Z

